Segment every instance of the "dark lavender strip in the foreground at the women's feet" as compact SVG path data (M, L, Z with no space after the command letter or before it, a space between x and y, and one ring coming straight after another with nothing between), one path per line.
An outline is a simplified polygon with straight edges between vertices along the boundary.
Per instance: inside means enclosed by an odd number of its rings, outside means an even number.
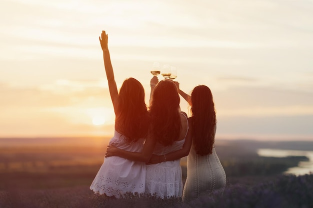
M93 195L87 187L0 192L1 208L312 208L313 175L277 176L251 187L228 185L224 192L205 193L182 203L129 195L109 200Z

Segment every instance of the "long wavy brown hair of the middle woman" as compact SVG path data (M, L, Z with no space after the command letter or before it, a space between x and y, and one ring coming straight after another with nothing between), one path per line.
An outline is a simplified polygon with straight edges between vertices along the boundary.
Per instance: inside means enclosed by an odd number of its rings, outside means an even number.
M172 145L179 137L179 101L173 82L162 80L155 86L150 106L151 135L163 146Z

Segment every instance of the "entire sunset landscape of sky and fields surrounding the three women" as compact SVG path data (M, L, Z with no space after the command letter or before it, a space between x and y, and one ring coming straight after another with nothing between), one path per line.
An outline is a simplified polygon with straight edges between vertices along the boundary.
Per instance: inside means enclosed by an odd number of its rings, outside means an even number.
M312 0L1 0L0 19L0 208L313 208ZM115 119L102 30L118 89L133 77L149 103L154 62L211 89L223 194L89 190Z

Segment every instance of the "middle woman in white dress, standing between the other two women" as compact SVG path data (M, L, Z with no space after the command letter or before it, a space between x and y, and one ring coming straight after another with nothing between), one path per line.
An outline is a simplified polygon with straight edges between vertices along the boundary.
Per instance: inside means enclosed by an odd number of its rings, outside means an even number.
M161 159L158 164L146 166L145 194L161 199L179 198L182 195L180 158L168 161L165 155L191 143L188 120L179 111L179 95L172 81L162 80L153 88L151 83L151 127L143 151L129 152L109 145L106 154L142 162L148 162L152 152L158 155Z

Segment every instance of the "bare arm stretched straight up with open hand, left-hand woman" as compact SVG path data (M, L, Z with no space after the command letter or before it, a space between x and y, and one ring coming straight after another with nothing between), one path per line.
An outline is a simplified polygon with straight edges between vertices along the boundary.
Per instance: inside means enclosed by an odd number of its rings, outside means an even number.
M110 54L107 48L107 34L104 30L102 30L101 36L99 37L100 45L103 51L103 61L104 61L104 68L108 83L108 89L110 92L111 100L113 103L114 112L116 114L117 110L117 102L118 102L118 92L116 87L116 82L114 79L113 67L110 59Z

